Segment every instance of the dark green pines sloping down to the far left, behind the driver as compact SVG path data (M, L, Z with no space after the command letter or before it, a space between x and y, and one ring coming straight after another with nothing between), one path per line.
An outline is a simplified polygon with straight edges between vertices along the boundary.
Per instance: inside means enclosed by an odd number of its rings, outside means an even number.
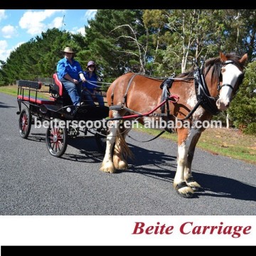
M14 84L16 80L38 80L38 77L51 78L56 72L58 60L63 58L60 51L65 46L81 48L71 33L57 28L48 29L41 36L31 38L12 51L6 63L1 63L4 84Z

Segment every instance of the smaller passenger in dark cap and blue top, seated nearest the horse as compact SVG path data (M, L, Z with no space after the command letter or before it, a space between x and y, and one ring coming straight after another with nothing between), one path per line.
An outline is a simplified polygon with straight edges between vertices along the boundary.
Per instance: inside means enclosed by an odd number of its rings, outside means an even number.
M95 105L94 100L99 102L100 106L104 106L102 95L97 92L97 74L95 62L90 60L87 63L87 71L84 72L86 82L82 83L83 95L85 102L89 105Z

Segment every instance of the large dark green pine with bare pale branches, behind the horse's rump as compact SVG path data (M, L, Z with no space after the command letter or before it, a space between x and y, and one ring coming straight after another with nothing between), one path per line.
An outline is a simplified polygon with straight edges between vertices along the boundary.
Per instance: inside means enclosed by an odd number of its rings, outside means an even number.
M88 49L84 58L95 60L105 81L132 70L150 72L152 37L142 10L99 10L85 27Z

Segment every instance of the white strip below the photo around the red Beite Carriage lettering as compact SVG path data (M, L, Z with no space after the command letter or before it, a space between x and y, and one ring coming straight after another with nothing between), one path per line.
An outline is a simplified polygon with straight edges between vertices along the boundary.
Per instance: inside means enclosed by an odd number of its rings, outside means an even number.
M187 223L186 232L194 226L223 227L251 226L240 238L229 234L182 234L180 227ZM173 233L132 235L136 223L174 226ZM190 223L193 223L190 224ZM256 245L256 216L0 216L0 245ZM156 228L154 228L156 230ZM159 230L160 231L160 228ZM153 231L151 231L153 232ZM150 233L150 232L149 232Z

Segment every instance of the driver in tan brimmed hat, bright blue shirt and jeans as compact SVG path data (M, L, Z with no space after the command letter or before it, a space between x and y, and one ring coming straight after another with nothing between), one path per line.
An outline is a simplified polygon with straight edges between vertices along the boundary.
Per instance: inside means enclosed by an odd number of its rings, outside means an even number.
M73 49L66 47L62 52L64 58L59 60L57 64L58 79L63 83L68 95L70 95L73 105L79 106L81 95L81 84L79 81L85 82L85 76L80 63L74 59L75 52Z

